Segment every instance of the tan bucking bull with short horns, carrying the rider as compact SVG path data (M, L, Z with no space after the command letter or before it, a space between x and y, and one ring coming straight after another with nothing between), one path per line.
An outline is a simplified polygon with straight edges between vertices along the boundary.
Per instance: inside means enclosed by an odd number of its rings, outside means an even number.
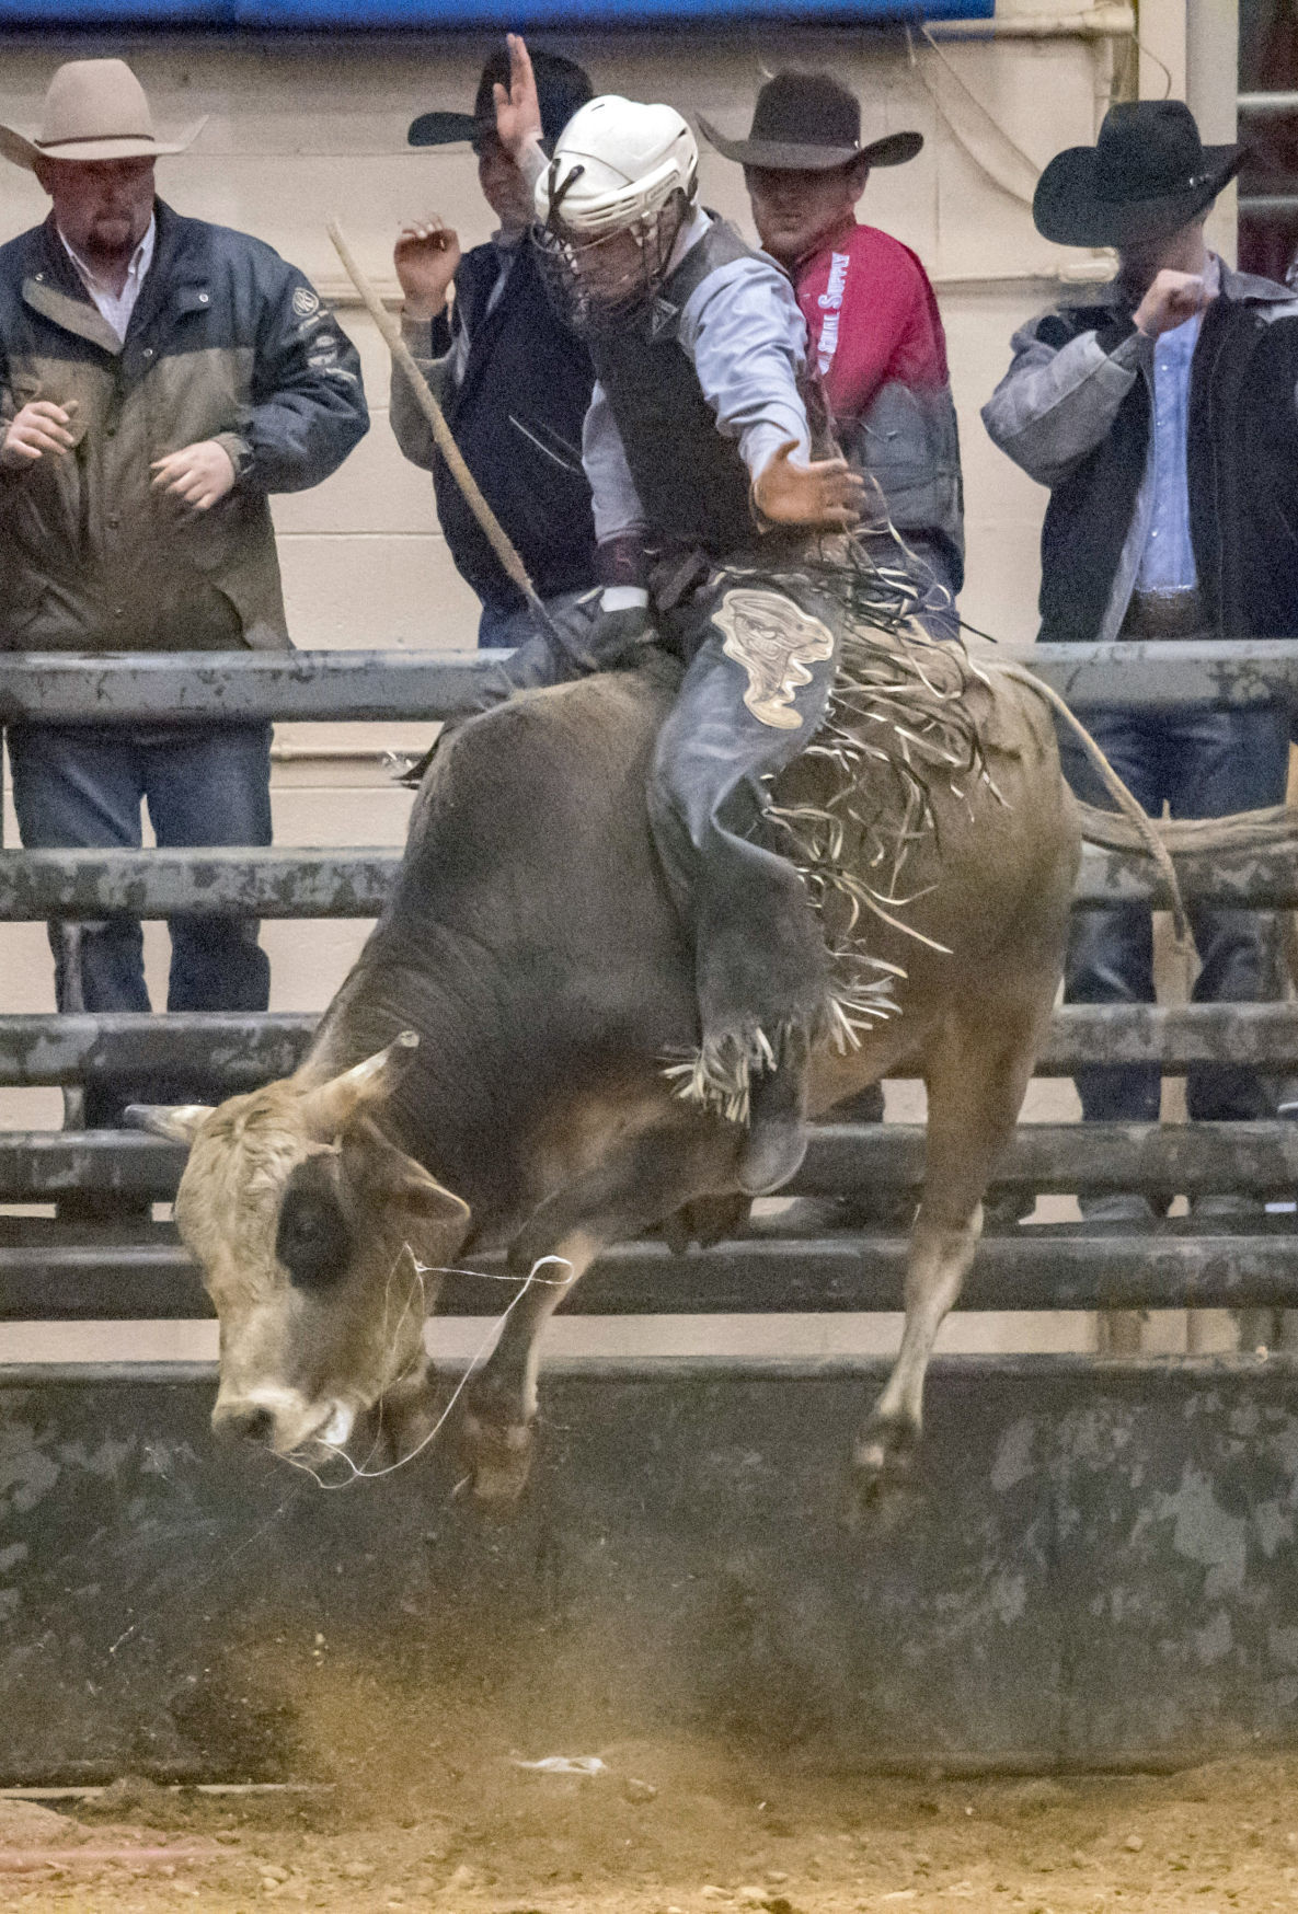
M504 1246L517 1279L534 1277L469 1386L465 1432L477 1493L513 1495L538 1338L571 1282L682 1212L697 1231L733 1221L741 1131L664 1076L697 1045L691 953L643 806L668 701L653 676L618 674L463 725L299 1072L216 1110L151 1112L190 1145L176 1217L220 1317L218 1430L360 1462L381 1422L410 1453L429 1428L436 1271ZM929 1355L1055 999L1078 865L1040 697L996 676L963 701L980 762L923 766L932 819L906 865L913 901L867 913L871 955L902 972L896 1014L858 1028L860 1047L827 1043L814 1076L817 1112L902 1060L929 1087L906 1332L856 1445L862 1489L919 1436ZM883 762L865 764L877 836L902 798ZM827 773L804 758L791 802L814 810ZM848 877L862 859L869 888L865 854L848 833Z

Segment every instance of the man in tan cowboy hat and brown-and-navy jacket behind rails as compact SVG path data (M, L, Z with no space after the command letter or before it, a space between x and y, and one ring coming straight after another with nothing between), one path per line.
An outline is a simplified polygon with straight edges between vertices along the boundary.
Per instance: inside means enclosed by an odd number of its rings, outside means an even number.
M354 348L293 266L172 212L121 59L59 67L40 132L0 128L50 216L0 249L0 521L11 651L283 649L270 492L362 438ZM270 725L10 729L27 846L270 842ZM147 1011L140 926L52 924L63 1009ZM168 1009L262 1011L257 924L174 919ZM121 1087L88 1091L111 1120Z

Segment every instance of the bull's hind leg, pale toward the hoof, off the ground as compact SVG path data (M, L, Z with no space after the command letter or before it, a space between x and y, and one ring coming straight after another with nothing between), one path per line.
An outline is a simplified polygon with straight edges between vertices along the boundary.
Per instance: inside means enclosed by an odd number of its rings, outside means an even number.
M902 1349L854 1449L854 1502L906 1472L923 1422L929 1357L982 1235L982 1192L1009 1143L1049 1016L1049 976L1034 990L965 999L925 1057L925 1191L906 1265Z

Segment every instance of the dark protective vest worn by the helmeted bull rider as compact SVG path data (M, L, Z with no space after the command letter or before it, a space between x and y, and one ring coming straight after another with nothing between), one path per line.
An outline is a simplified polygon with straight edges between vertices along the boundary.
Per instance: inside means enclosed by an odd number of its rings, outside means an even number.
M649 544L726 557L756 545L749 467L722 438L693 360L678 339L680 316L703 281L737 258L756 256L726 220L712 220L651 304L616 331L592 339L590 356L616 419Z

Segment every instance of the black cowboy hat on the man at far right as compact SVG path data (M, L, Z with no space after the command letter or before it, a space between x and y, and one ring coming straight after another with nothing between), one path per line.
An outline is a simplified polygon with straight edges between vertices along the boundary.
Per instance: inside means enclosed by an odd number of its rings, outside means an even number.
M1135 100L1105 113L1095 145L1051 159L1032 218L1059 245L1166 239L1206 212L1242 157L1239 145L1204 145L1185 101Z

